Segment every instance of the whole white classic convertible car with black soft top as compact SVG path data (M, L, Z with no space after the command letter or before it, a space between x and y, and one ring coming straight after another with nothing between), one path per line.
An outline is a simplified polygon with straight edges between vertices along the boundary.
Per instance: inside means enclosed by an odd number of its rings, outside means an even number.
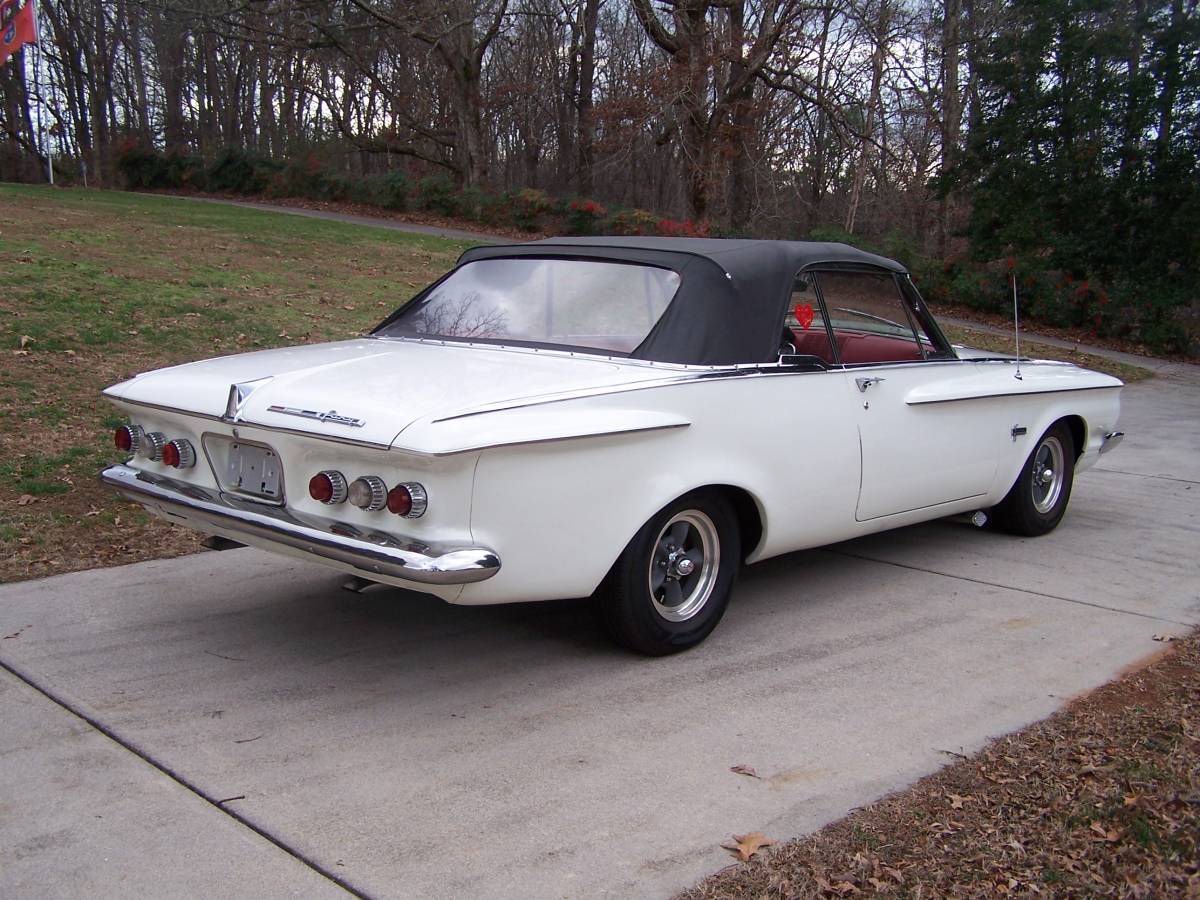
M743 563L964 512L1051 530L1121 386L955 350L904 266L840 244L553 239L467 251L360 340L113 385L102 478L454 604L594 596L664 654Z

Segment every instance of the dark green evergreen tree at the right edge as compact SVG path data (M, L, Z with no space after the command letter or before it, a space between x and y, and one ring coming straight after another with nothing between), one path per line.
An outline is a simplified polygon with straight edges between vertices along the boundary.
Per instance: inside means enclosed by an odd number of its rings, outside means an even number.
M1200 18L1183 0L1016 0L955 172L971 252L1061 324L1186 341L1200 271ZM1111 302L1111 305L1110 305Z

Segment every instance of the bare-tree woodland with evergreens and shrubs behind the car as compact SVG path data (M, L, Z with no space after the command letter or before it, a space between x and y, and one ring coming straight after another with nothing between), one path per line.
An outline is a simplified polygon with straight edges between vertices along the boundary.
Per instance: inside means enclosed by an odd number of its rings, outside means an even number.
M1046 320L1194 341L1196 0L40 8L41 102L36 53L0 70L0 179L43 178L40 110L72 181L258 166L264 192L374 179L382 205L545 204L574 230L650 210L608 228L850 239L960 302L1000 308L1015 271Z

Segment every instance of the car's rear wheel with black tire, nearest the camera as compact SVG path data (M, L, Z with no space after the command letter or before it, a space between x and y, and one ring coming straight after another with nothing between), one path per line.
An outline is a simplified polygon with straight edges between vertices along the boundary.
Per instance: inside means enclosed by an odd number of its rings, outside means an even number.
M690 572L680 571L689 564ZM733 506L715 491L695 491L634 535L596 593L598 618L613 641L637 653L686 650L721 620L740 564Z

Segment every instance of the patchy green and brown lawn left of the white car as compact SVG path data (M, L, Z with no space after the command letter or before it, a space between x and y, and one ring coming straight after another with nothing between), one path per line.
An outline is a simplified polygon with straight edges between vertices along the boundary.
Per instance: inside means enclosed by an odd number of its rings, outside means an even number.
M468 245L109 191L0 185L0 582L197 550L118 500L100 390L358 335Z

